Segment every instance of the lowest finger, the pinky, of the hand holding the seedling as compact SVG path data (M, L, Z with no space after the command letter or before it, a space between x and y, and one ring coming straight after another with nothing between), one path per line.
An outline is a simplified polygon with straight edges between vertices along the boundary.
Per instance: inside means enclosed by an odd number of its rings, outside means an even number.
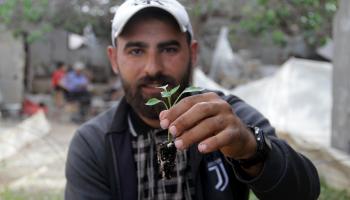
M240 151L242 145L241 133L238 128L230 128L221 131L220 133L207 138L198 145L198 150L201 153L210 153L213 151L220 150L225 146L233 148L233 153Z

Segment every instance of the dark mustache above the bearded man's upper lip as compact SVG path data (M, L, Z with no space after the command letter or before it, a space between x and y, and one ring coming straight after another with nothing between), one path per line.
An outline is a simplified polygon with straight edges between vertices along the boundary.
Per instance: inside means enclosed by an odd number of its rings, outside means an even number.
M175 86L176 80L170 76L164 75L162 73L158 73L154 76L145 76L136 82L136 86L138 88L149 84L157 84L159 86L168 84L169 86Z

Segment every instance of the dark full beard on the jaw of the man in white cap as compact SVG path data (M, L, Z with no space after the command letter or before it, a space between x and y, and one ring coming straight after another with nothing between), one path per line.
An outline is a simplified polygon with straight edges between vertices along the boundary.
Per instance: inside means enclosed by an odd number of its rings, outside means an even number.
M147 106L145 105L145 103L150 98L157 98L159 100L164 100L164 99L162 99L160 93L157 93L154 96L144 96L144 94L142 93L142 87L150 84L157 84L159 86L168 84L167 89L169 91L170 89L180 84L180 88L178 92L172 96L172 101L174 101L174 99L178 97L180 92L183 91L186 87L188 87L189 84L191 83L192 72L193 72L192 63L190 61L187 66L187 70L185 71L185 74L182 75L179 83L176 81L175 78L171 76L167 76L162 73L157 73L154 76L145 76L137 80L136 84L134 85L127 82L120 74L124 93L125 93L125 99L131 105L132 109L136 113L148 119L159 119L159 113L162 110L166 109L165 106L162 103L158 103L154 106Z

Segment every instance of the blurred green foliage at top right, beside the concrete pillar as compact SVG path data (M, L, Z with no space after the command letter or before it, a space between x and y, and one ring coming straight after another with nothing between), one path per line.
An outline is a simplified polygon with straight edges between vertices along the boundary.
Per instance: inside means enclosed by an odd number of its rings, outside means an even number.
M301 35L310 48L315 48L331 36L337 3L338 0L257 0L243 9L240 26L282 46L289 37Z

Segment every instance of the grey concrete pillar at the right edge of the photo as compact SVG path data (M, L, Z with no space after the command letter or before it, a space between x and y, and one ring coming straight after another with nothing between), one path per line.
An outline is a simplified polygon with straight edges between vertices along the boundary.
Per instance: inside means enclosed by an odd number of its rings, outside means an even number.
M334 23L332 146L350 153L350 1L341 0Z

